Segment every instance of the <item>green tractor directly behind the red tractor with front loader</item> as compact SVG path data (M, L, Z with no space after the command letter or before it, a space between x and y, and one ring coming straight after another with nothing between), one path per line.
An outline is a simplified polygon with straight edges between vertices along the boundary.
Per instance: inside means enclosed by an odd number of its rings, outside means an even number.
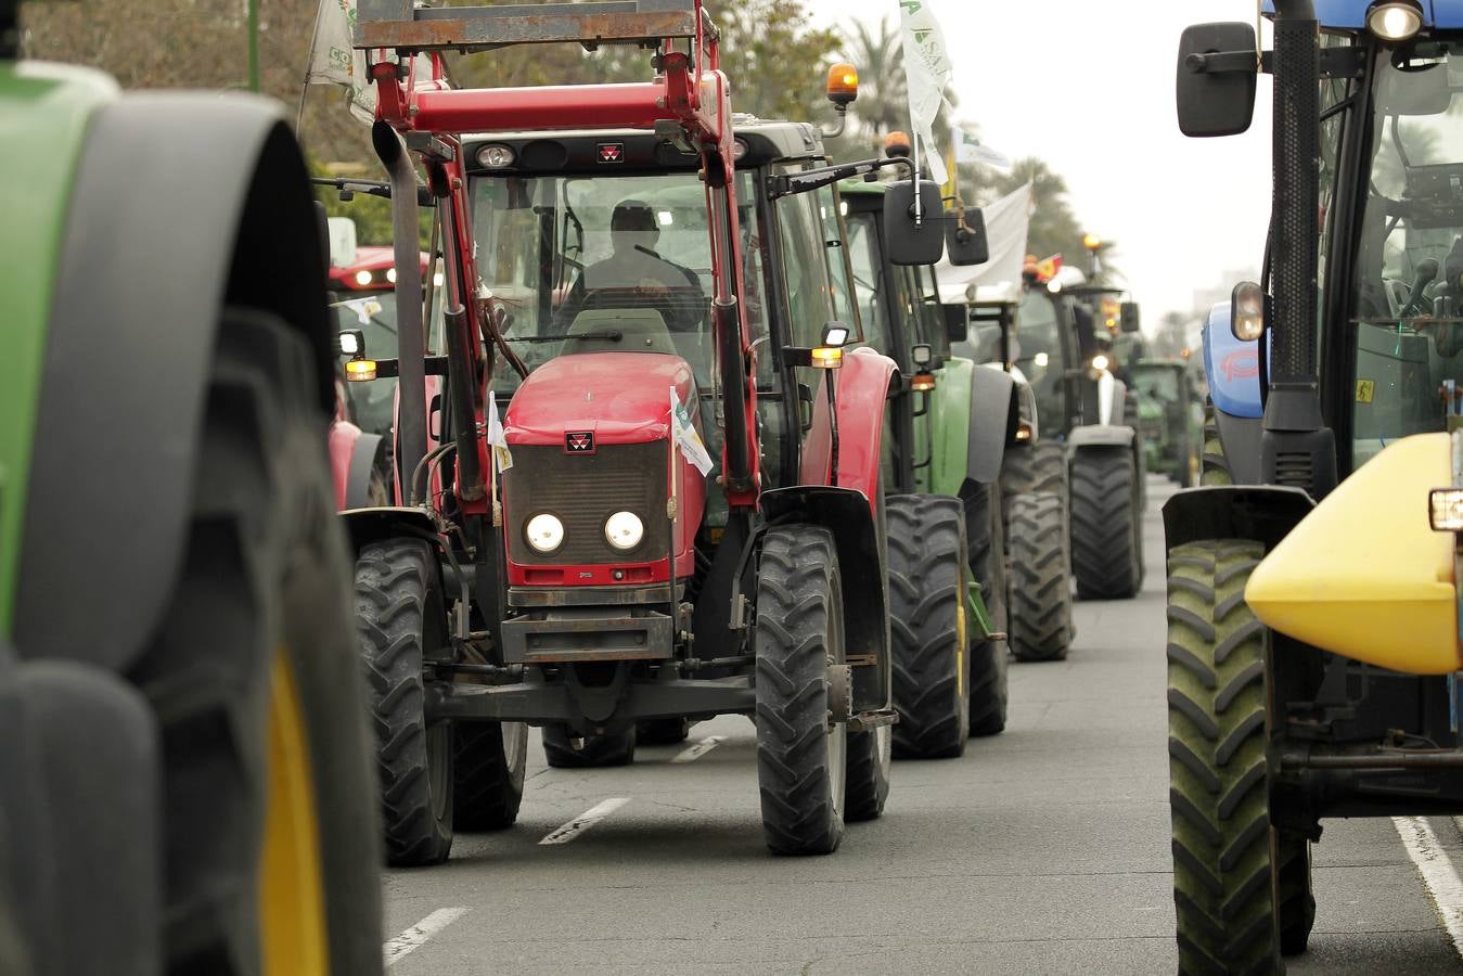
M865 338L900 364L884 439L890 486L890 598L894 612L895 755L947 757L964 751L964 735L995 735L1007 721L1007 572L1001 506L1001 459L1018 436L1015 380L951 353L935 269L898 265L884 240L879 183L846 180L847 244ZM961 335L961 338L964 338ZM914 531L914 512L942 512L949 531ZM960 628L952 635L901 601L922 597L923 579L952 547L963 546ZM951 552L947 552L951 550ZM903 625L909 620L911 625ZM951 663L948 647L964 660ZM969 653L967 653L969 651ZM966 692L948 710L942 689ZM939 702L939 705L936 705ZM969 714L969 717L966 717Z

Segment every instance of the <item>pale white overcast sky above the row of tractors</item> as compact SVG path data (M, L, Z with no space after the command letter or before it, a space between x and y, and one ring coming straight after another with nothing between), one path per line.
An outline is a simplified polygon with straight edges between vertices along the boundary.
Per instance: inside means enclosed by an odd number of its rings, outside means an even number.
M815 20L898 23L897 0L806 0ZM926 0L958 51L957 119L1067 177L1087 228L1118 243L1144 318L1258 268L1270 214L1270 82L1244 136L1186 139L1173 78L1189 23L1254 20L1252 0Z

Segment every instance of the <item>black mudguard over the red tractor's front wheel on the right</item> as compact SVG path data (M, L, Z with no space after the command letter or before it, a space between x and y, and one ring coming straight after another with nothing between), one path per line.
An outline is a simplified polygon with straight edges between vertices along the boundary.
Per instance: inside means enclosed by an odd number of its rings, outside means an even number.
M803 484L762 492L768 522L809 522L832 531L843 579L844 647L849 657L872 657L873 667L853 669L854 711L890 707L888 571L869 499L853 489Z

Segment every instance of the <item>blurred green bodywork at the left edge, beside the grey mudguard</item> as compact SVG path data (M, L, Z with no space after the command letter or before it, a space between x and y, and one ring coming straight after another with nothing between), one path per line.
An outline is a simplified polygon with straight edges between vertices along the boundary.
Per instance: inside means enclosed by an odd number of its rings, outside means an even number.
M0 637L13 637L16 574L45 341L72 184L97 110L117 97L99 72L0 61Z

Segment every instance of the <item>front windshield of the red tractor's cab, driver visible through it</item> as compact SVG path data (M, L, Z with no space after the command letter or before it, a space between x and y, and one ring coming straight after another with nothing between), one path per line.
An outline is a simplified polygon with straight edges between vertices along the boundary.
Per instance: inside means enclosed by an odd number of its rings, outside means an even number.
M710 389L711 241L695 173L478 177L473 222L478 275L528 369L569 353L669 353ZM516 385L505 363L497 380Z

